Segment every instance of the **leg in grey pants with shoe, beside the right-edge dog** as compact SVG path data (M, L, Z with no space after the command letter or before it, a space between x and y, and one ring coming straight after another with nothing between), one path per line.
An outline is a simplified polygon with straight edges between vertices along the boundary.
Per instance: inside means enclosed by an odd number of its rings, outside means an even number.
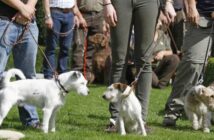
M187 32L182 47L183 57L176 71L172 92L166 102L164 126L175 126L183 113L183 97L196 85L202 71L211 28L202 29L187 24ZM212 44L212 40L210 40Z

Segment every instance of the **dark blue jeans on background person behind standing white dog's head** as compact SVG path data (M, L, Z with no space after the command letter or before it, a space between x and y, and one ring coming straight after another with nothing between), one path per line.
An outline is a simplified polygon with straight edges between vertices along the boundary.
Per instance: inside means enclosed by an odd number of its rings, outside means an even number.
M51 16L53 20L53 30L55 32L65 33L72 29L74 25L74 16L73 13L63 13L58 10L51 10ZM45 49L45 55L47 56L48 61L50 62L53 70L57 70L58 73L63 73L67 71L67 65L69 60L69 49L72 43L73 31L67 34L66 36L60 36L59 34L53 32L53 30L47 31L47 46ZM57 59L56 66L56 54L55 49L59 43L59 55ZM50 79L53 77L53 70L50 68L47 61L43 61L43 72L44 77Z

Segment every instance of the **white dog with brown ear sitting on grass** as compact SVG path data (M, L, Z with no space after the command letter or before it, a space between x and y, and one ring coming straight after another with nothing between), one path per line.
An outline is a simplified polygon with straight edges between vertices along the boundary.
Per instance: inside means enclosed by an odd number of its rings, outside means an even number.
M112 84L104 92L103 98L119 104L119 120L116 123L121 135L126 135L126 132L147 135L141 115L140 102L130 86L122 83Z

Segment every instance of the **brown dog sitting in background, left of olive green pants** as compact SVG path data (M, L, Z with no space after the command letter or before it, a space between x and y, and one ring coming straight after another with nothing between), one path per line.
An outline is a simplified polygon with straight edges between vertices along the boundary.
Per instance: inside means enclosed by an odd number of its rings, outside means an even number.
M95 46L95 52L92 60L95 82L108 83L108 77L111 66L111 49L109 47L109 37L97 33L89 37L89 41Z

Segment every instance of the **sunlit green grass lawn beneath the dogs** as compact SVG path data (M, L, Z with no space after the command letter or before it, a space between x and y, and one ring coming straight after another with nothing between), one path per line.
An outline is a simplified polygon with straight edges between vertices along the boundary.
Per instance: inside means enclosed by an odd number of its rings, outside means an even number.
M17 107L9 112L3 122L4 129L13 129L23 132L25 139L43 140L211 140L214 139L213 129L210 134L202 131L193 131L189 121L182 119L177 121L176 128L164 128L161 126L163 108L170 92L170 87L164 90L152 90L148 124L152 127L152 133L147 137L128 134L109 134L104 132L109 120L108 103L101 96L105 90L102 85L90 85L90 95L80 96L71 92L66 97L65 105L57 113L56 132L43 134L39 130L23 128L19 119ZM41 109L38 109L40 118Z

